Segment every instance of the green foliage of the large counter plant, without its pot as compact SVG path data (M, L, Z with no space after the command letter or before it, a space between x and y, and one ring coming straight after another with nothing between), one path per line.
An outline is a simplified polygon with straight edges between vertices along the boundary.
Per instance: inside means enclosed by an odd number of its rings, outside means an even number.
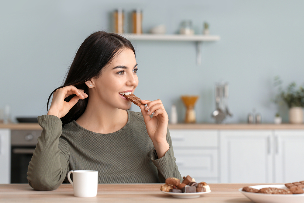
M275 77L275 86L279 86L279 93L276 96L275 101L278 102L280 98L284 100L288 107L304 107L304 88L302 86L296 89L296 83L292 82L287 86L287 90L282 90L282 80L279 76Z

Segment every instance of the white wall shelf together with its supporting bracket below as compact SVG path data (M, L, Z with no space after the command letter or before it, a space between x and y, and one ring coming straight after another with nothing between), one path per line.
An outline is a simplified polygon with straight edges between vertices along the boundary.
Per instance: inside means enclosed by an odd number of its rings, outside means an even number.
M220 40L218 35L181 35L181 34L131 34L122 35L129 40L157 40L157 41L192 41L196 42L196 64L201 65L202 42L215 42Z

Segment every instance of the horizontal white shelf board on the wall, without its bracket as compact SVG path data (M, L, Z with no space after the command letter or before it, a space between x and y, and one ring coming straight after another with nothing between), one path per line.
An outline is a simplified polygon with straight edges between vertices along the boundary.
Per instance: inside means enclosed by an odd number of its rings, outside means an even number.
M182 35L182 34L122 34L129 40L165 40L165 41L218 41L218 35Z

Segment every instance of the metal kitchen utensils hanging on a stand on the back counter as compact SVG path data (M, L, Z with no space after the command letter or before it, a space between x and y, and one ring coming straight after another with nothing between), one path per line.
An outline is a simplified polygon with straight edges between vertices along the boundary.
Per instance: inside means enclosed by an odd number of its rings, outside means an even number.
M214 110L211 114L216 123L222 123L227 116L232 116L228 109L228 96L228 83L217 83L215 86L216 110Z

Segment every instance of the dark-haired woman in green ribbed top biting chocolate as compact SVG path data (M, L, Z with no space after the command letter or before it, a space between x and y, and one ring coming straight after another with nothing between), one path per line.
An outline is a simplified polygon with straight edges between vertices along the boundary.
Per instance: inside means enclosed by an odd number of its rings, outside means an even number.
M38 117L43 131L28 167L31 187L57 189L70 170L97 170L98 183L181 179L161 100L141 100L141 113L127 110L123 93L136 89L137 70L124 37L99 31L81 44L47 115Z

